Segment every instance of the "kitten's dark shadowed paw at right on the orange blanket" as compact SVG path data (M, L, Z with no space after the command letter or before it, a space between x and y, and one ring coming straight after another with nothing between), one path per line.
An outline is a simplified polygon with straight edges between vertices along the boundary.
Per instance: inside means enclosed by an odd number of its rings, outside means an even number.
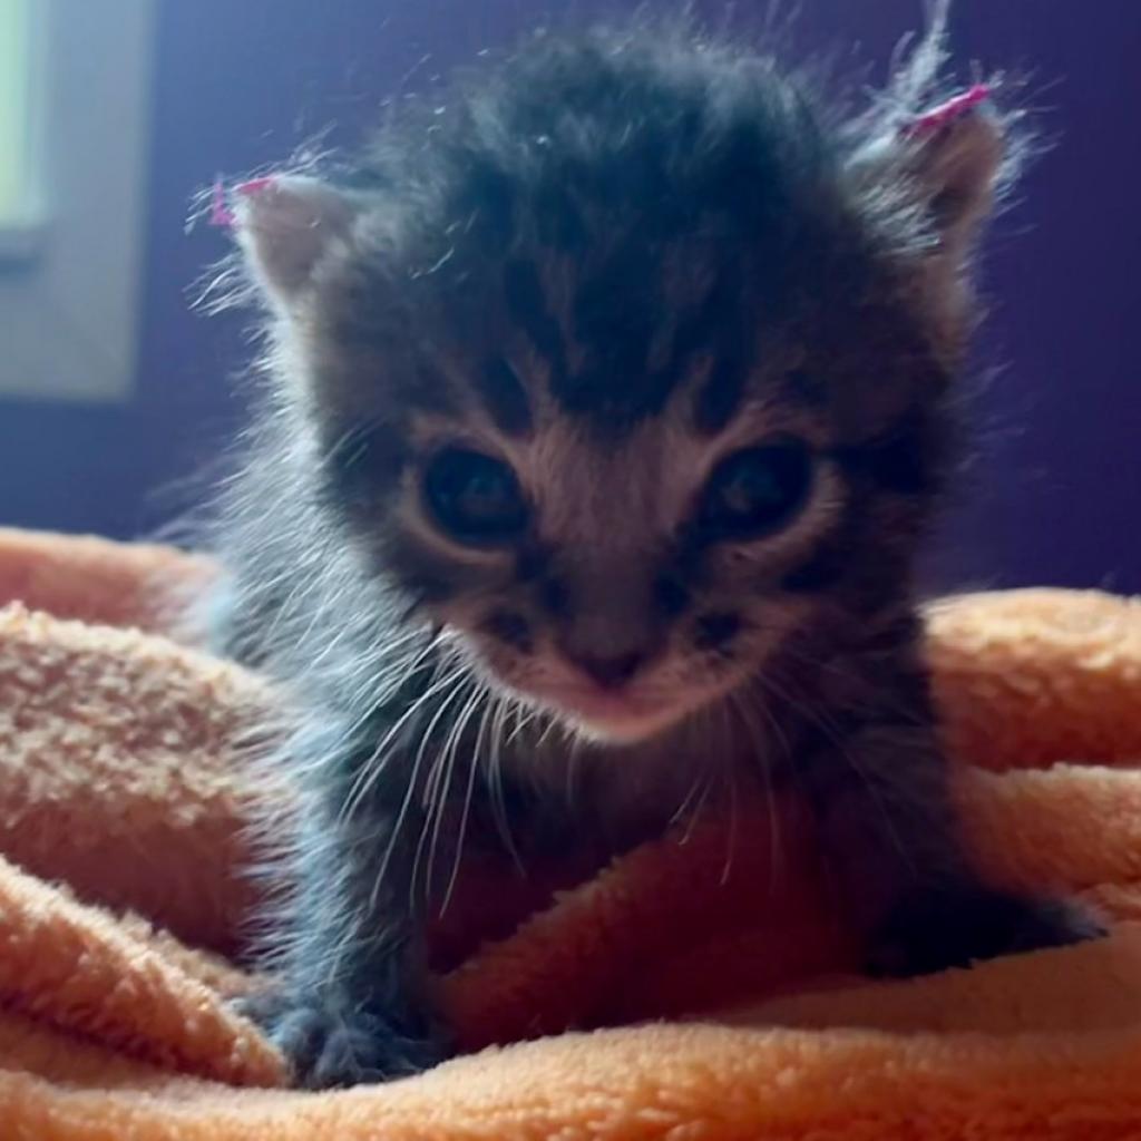
M1065 947L1103 936L1075 904L1033 899L978 884L922 888L901 899L872 940L867 973L933 974L987 958Z

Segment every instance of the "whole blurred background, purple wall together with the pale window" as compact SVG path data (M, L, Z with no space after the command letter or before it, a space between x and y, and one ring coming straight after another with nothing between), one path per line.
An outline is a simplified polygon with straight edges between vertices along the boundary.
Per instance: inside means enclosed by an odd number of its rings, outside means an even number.
M187 230L195 191L317 132L353 143L382 100L509 42L544 7L0 0L0 525L138 536L185 505L187 477L241 423L249 354L240 315L191 308L225 251L219 232ZM739 35L762 23L747 3L695 7ZM869 81L923 15L921 0L795 7L798 48ZM1141 591L1141 3L956 0L953 29L968 65L1029 75L1053 146L986 264L977 459L937 584Z

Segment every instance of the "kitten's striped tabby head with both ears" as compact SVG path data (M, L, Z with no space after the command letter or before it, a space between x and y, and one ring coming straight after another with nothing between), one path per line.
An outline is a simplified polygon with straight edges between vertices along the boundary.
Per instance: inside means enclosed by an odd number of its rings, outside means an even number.
M246 196L346 542L607 739L898 604L1003 149L986 111L909 138L914 110L836 123L768 60L540 39L341 185Z

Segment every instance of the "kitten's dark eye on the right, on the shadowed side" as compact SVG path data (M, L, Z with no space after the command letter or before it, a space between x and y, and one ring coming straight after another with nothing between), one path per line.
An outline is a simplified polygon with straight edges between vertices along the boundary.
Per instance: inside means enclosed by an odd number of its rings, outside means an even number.
M812 458L800 440L743 448L713 469L701 524L719 539L760 537L792 520L811 485Z

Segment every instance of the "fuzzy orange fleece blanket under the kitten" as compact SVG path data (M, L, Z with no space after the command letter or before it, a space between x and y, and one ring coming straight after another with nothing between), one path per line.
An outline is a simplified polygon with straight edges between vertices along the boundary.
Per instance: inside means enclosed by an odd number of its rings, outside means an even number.
M442 936L466 1053L314 1094L227 1006L256 985L241 754L273 694L163 633L154 583L209 573L0 532L3 1141L1141 1136L1141 602L929 615L981 867L1085 897L1106 939L860 979L807 822L743 808L728 871L707 820L549 897L469 884L519 914Z

